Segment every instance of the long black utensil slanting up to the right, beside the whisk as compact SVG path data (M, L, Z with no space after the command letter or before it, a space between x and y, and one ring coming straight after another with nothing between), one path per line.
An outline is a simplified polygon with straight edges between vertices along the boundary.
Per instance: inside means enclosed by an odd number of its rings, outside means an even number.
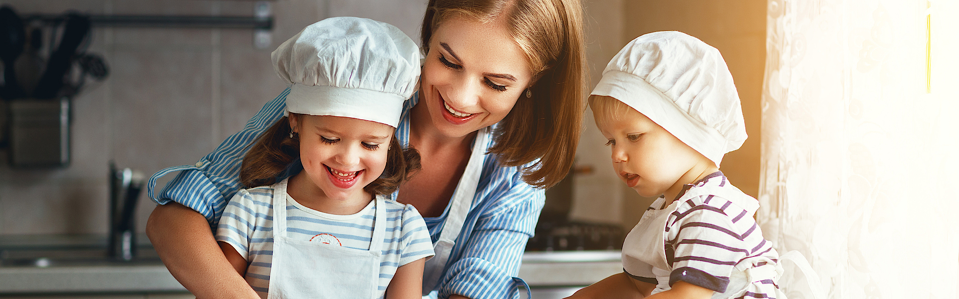
M63 25L63 36L50 58L47 68L36 84L34 97L37 99L51 99L57 97L63 87L63 77L70 69L71 60L77 54L83 39L90 33L90 19L77 13L67 13L66 23Z

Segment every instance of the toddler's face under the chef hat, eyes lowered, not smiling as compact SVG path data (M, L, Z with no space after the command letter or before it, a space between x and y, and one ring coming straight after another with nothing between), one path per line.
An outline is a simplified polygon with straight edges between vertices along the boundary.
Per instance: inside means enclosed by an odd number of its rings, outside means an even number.
M640 196L660 196L671 188L682 188L680 177L701 159L698 151L635 109L630 108L620 120L600 122L600 116L594 115L613 150L613 169Z

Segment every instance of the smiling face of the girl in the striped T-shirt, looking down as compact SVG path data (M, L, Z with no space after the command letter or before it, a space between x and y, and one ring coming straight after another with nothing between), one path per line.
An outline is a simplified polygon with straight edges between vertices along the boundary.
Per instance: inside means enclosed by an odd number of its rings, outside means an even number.
M386 168L393 127L338 116L291 114L303 172L317 194L334 200L369 199L363 187Z

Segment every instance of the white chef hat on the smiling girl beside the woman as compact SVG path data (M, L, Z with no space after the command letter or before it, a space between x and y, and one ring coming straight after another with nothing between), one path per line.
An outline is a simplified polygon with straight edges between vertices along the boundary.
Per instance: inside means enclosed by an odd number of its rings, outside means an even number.
M419 49L407 34L360 17L316 22L270 57L276 74L292 84L284 115L332 115L396 127L420 75Z

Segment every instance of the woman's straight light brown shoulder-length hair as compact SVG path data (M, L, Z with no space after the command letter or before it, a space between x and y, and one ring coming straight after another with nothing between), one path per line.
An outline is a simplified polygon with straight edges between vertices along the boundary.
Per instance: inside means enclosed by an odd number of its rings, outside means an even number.
M533 72L532 97L520 97L501 121L490 152L504 166L524 169L526 183L549 188L566 176L582 131L585 51L579 0L430 0L422 45L430 53L433 31L451 16L492 22L505 17Z

